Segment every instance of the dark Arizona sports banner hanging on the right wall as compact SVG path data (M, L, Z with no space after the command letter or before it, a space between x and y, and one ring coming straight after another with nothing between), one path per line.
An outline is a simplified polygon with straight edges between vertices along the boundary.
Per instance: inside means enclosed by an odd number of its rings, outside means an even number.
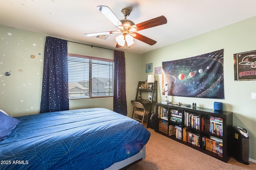
M235 81L256 80L256 51L234 54Z

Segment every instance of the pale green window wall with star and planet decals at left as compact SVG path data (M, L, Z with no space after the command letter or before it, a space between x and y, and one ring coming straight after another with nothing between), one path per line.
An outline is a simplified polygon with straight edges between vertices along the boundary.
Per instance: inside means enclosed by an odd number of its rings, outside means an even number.
M0 25L0 109L13 117L37 114L40 111L44 44L47 36ZM114 59L113 50L70 41L68 53ZM128 116L131 117L133 107L130 101L135 98L140 78L140 55L125 52L125 56L126 97ZM90 107L113 110L113 98L70 100L70 109Z

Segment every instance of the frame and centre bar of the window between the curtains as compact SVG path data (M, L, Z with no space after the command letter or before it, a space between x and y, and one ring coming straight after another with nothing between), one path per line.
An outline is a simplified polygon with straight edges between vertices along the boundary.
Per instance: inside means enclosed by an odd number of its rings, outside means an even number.
M89 59L89 65L92 64L92 60L98 60L98 61L106 61L106 62L112 62L113 63L113 70L112 70L112 94L111 96L92 96L92 67L89 66L89 97L81 97L81 98L69 98L69 100L76 100L76 99L93 99L93 98L112 98L114 97L114 59L104 59L100 57L91 57L91 56L86 56L86 55L78 55L78 54L73 54L73 53L68 53L68 57L78 57L78 58L83 58L83 59ZM104 84L104 83L103 83ZM68 90L68 95L69 90Z

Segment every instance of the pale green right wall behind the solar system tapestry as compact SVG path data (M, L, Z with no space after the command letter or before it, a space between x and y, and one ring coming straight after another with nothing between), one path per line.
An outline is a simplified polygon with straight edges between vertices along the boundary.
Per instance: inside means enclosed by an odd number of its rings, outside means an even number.
M171 38L171 37L169 37ZM172 61L194 57L219 49L224 49L224 100L186 98L169 96L169 100L213 109L214 102L223 102L223 109L232 111L233 125L239 125L249 131L250 158L256 160L256 100L251 99L251 92L256 92L256 81L234 81L233 54L256 50L256 17L205 33L161 49L142 55L141 66L153 63L153 68L162 66L163 61ZM142 79L147 74L142 71ZM162 91L162 74L155 75L159 82L158 91ZM158 101L164 95L158 93Z

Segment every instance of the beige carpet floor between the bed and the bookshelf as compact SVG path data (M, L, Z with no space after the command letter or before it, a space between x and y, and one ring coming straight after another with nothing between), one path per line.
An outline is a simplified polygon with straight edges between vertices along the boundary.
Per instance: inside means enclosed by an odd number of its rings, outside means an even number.
M230 158L222 162L198 150L178 143L148 128L146 158L127 170L256 170L256 163L244 165Z

